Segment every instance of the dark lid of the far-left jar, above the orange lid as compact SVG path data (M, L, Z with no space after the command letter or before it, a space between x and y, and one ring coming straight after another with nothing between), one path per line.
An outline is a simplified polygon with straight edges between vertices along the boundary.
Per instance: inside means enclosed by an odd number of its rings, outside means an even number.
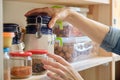
M3 31L4 32L17 32L18 31L18 24L15 23L4 23L3 24Z

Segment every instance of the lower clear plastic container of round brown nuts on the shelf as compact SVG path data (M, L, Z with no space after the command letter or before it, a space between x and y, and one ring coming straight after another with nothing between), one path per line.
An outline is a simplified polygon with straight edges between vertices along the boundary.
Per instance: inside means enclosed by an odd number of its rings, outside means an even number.
M74 62L90 58L94 53L94 44L88 37L62 38L63 46L55 42L55 54L62 56L68 62Z

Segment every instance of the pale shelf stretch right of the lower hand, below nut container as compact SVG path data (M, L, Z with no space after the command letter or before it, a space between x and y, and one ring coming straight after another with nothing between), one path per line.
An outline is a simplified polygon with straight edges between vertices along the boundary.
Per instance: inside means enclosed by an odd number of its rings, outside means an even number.
M94 57L91 59L86 59L83 61L72 63L71 65L75 70L82 71L108 62L112 62L112 60L112 57Z

